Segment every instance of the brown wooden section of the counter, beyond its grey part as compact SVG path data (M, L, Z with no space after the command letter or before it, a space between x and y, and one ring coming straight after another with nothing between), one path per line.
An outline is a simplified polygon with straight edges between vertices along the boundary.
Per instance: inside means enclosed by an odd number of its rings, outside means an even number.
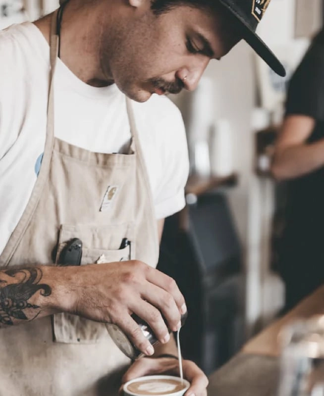
M280 330L293 320L309 318L313 315L324 314L324 286L321 286L309 297L302 300L287 315L276 320L272 325L252 338L242 349L243 352L278 356L280 348L278 334Z

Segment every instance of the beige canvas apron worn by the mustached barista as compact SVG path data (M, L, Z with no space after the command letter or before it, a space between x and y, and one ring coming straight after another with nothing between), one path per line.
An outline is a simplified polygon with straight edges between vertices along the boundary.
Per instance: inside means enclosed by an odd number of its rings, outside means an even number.
M53 264L72 238L83 242L81 264L104 254L107 262L136 258L156 266L157 222L130 100L125 99L132 136L128 154L91 152L54 138L55 27L56 12L42 166L0 266ZM131 248L119 249L123 238ZM116 395L129 363L105 324L75 315L0 329L1 396Z

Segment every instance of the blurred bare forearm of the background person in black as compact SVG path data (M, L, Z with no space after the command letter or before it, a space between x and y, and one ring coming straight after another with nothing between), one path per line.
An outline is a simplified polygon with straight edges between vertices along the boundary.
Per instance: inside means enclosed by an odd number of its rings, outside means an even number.
M271 172L278 180L292 179L313 172L324 165L324 140L277 150Z

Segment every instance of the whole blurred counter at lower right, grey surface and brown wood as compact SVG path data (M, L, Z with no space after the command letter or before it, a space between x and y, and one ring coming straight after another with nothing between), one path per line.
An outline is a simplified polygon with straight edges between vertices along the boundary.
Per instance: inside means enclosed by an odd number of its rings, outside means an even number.
M324 286L251 339L240 353L209 377L209 396L276 396L280 330L298 318L324 314Z

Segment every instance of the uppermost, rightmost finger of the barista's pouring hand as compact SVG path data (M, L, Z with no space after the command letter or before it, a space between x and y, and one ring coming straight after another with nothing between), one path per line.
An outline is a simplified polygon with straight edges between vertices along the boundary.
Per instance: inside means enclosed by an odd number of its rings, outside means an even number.
M174 279L163 274L163 272L161 272L157 269L151 268L151 267L149 267L147 270L146 279L149 282L153 283L154 285L165 290L167 293L169 293L173 297L173 299L174 299L174 301L182 315L187 312L187 307L185 304L184 297L182 296Z

